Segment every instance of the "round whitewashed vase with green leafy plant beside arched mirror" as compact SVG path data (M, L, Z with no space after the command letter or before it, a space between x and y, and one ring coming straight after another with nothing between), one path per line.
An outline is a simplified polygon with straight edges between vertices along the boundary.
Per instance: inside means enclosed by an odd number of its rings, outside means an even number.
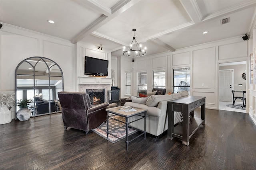
M31 116L31 111L28 109L28 106L30 103L33 102L32 99L20 99L17 102L17 106L20 107L20 109L17 111L17 117L20 121L26 121Z

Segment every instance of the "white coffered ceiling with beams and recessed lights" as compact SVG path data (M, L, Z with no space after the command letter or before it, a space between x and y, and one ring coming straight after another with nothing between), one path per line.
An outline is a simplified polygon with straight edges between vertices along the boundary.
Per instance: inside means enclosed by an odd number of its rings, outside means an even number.
M0 0L0 22L95 49L102 44L114 56L132 42L135 28L136 40L153 55L245 33L250 37L255 9L256 0ZM230 22L221 25L225 18Z

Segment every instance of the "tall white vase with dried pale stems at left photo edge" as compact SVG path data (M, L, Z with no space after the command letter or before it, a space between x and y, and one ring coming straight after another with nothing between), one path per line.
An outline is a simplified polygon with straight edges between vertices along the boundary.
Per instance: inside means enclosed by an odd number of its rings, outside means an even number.
M4 94L0 92L0 125L12 121L12 111L10 111L10 109L15 104L15 100L12 96L14 96L14 94Z

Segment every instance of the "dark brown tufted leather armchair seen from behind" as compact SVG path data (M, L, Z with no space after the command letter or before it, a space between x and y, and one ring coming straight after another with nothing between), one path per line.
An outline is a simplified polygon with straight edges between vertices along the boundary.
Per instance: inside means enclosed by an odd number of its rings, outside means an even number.
M71 127L87 134L107 120L108 102L92 107L88 93L84 92L58 92L58 97L65 130Z

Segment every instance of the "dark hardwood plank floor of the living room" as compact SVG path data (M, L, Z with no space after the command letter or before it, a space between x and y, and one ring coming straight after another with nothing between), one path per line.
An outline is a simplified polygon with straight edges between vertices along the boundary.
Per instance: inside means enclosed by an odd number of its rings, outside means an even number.
M196 110L198 117L200 109ZM96 133L64 131L56 113L0 125L1 170L255 170L256 126L246 113L206 109L201 125L182 145L147 135L129 144Z

